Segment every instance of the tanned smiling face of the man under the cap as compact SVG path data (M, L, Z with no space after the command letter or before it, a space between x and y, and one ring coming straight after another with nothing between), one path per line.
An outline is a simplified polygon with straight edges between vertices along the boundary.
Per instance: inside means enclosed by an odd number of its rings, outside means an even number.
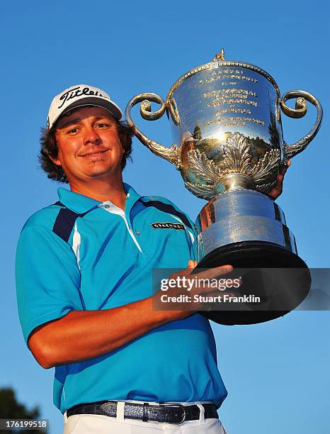
M57 122L56 165L62 166L70 184L92 178L118 179L123 146L115 118L106 109L81 107Z

